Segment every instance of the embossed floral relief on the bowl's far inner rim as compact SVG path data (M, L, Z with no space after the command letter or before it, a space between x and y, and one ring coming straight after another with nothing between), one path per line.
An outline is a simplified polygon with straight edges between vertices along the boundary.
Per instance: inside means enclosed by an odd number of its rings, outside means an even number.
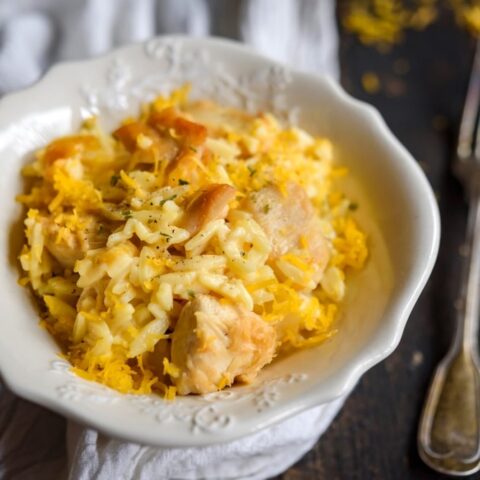
M189 83L198 98L215 98L251 112L265 110L294 123L297 109L288 109L285 89L291 81L286 67L269 65L235 76L212 58L208 50L184 50L179 39L154 38L144 44L141 54L155 62L158 70L150 75L135 72L122 56L115 56L105 69L103 88L85 84L81 93L91 115L124 113L138 109L161 93ZM209 81L199 81L208 78Z

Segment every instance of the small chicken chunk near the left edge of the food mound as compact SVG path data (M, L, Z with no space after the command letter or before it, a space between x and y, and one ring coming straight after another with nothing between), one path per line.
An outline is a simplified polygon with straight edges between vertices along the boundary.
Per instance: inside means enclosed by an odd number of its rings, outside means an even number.
M73 267L87 250L104 247L107 243L109 232L100 228L93 218L86 219L82 230L58 225L51 218L42 218L41 222L45 247L64 267Z

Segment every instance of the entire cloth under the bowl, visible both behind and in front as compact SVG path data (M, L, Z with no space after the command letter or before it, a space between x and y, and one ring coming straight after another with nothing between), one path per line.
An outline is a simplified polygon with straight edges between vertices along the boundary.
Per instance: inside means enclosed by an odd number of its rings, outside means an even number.
M162 33L238 38L296 68L338 76L334 0L3 0L0 94L31 84L55 61ZM65 428L61 417L0 384L0 477L263 480L303 456L343 401L227 444L159 449L70 421Z

